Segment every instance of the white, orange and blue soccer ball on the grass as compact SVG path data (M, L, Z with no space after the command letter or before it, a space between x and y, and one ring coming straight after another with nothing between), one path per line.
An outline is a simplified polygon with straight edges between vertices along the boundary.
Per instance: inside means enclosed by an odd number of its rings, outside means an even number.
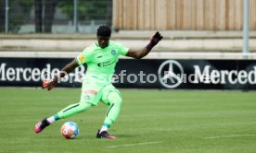
M79 134L79 127L74 122L67 122L61 126L61 135L67 139L74 139Z

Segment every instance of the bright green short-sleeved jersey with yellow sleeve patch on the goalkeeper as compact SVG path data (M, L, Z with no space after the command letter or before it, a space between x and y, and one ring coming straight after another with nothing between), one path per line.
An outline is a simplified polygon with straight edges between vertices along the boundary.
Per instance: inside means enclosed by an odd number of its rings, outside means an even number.
M78 65L87 65L84 80L110 83L119 55L125 55L128 50L129 48L116 41L109 41L109 46L104 49L97 42L85 48L76 57Z

